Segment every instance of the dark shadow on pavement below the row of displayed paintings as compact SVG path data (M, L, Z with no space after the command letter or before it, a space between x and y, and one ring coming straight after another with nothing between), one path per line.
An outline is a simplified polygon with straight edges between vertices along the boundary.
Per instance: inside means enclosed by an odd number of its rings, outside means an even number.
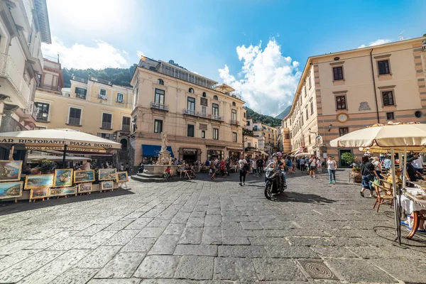
M0 216L62 204L71 204L75 202L89 200L99 200L102 198L117 197L122 195L133 195L134 193L129 190L131 190L131 188L129 188L128 190L118 189L109 192L92 192L92 194L90 195L71 196L67 198L60 197L59 199L57 199L56 197L50 197L49 200L37 200L36 202L28 202L28 200L19 200L18 203L15 203L13 201L2 202L0 204Z

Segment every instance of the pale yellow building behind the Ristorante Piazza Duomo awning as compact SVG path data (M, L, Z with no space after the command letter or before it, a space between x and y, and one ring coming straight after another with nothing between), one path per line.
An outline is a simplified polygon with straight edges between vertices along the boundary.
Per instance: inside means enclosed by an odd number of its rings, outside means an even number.
M75 129L117 141L117 157L128 162L133 91L104 80L74 77L63 87L60 63L45 59L45 72L35 92L38 129ZM61 90L63 92L61 92Z

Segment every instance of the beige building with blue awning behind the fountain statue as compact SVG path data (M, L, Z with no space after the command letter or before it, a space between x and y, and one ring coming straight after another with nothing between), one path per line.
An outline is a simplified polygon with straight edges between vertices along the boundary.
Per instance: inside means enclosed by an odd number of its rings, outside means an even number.
M246 111L231 87L150 59L139 62L131 84L134 165L158 155L162 132L168 134L169 151L180 160L241 155Z

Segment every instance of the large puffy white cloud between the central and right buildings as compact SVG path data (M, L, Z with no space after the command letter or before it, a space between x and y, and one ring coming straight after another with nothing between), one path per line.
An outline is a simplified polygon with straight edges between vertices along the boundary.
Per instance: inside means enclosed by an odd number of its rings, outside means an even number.
M241 45L236 53L243 67L237 79L225 65L219 77L242 94L251 109L263 114L277 115L293 102L300 79L299 62L281 54L281 47L273 38L262 50L261 43Z

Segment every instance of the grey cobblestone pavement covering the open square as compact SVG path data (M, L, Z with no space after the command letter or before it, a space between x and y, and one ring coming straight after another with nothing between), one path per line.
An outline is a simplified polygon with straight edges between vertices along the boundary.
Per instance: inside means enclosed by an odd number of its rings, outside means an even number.
M234 174L9 203L0 283L425 283L426 238L393 246L392 210L348 176L297 173L271 201Z

